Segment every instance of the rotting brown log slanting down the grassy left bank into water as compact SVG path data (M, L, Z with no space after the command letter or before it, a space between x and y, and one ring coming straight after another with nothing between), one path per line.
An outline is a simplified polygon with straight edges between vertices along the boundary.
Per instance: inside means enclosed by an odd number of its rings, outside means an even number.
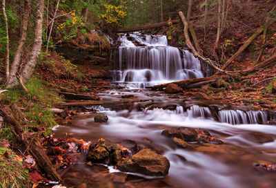
M12 133L14 133L15 137L17 138L17 141L20 144L22 144L23 147L25 147L25 149L28 149L28 151L30 151L39 167L43 171L45 171L46 176L48 176L48 178L50 178L51 180L61 181L59 173L57 173L55 167L52 165L52 162L50 161L50 158L48 158L45 150L41 146L40 134L37 134L37 136L32 137L31 140L27 140L26 138L24 138L23 126L17 121L17 118L15 118L14 115L14 113L19 112L14 112L14 109L17 108L12 109L10 109L10 106L3 106L0 109L0 116L3 118L4 122L10 124Z

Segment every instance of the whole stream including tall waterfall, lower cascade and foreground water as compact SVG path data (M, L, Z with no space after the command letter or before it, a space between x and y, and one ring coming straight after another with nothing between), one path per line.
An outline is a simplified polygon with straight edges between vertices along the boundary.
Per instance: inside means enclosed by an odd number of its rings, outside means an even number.
M201 71L199 60L188 50L168 46L164 35L135 32L118 40L121 46L112 55L117 64L110 72L116 89L98 94L102 106L89 107L106 114L108 122L94 122L95 113L82 113L72 126L59 126L55 136L87 142L135 140L140 149L150 148L168 158L168 176L131 173L124 183L112 182L105 177L116 169L82 160L65 175L66 181L87 187L276 187L275 172L255 167L276 162L276 126L268 124L268 112L150 91L147 86L208 73ZM161 135L164 129L179 126L207 129L224 143L192 142L191 149L181 149L172 138Z

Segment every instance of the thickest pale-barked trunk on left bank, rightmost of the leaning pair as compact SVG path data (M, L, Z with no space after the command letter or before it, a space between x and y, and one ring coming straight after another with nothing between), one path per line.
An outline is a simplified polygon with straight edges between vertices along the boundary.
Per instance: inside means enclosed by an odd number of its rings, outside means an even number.
M32 76L40 54L42 44L43 6L44 0L38 0L34 25L34 44L30 54L28 55L26 65L23 66L23 70L19 72L23 83L26 83Z

